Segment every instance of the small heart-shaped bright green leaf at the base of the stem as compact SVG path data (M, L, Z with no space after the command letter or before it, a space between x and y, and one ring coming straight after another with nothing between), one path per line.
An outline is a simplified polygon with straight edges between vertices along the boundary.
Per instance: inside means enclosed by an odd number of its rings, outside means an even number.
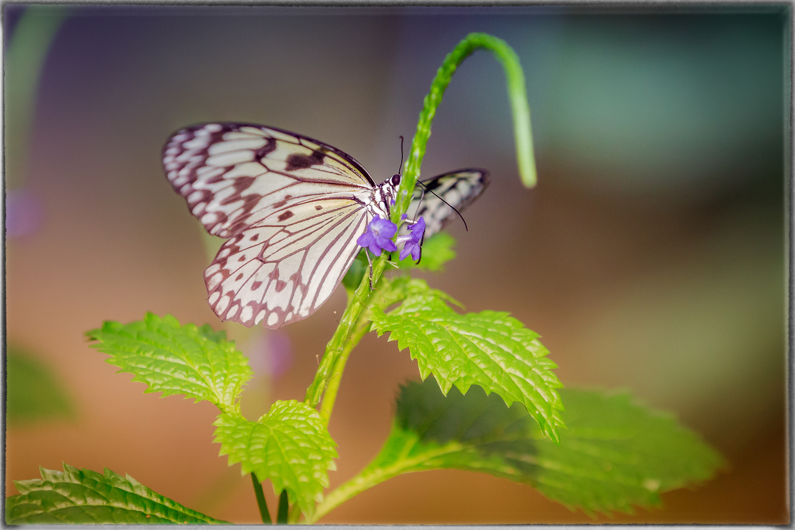
M290 501L304 516L312 516L337 458L336 443L314 408L296 400L276 401L256 422L221 414L214 425L213 441L221 444L220 455L229 455L230 466L240 462L243 474L270 479L277 496L287 489Z

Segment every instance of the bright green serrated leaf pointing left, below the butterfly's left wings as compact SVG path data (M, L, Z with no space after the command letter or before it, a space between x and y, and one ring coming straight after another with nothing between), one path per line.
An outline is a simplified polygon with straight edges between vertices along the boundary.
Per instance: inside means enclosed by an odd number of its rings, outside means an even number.
M223 331L212 331L207 324L180 326L171 315L161 319L147 313L129 324L107 321L86 335L99 341L91 346L111 355L106 362L149 385L145 392L184 394L210 401L223 412L237 410L242 385L253 375L246 357Z

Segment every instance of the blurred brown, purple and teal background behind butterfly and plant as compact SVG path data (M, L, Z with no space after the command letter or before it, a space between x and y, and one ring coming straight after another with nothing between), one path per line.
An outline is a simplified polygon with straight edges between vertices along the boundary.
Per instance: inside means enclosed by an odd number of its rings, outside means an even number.
M107 466L210 516L257 523L250 479L211 443L215 408L143 393L83 339L103 319L145 311L221 327L205 302L200 226L165 180L161 145L193 122L260 122L327 141L382 180L397 170L397 136L412 137L444 55L483 31L522 59L539 184L519 182L504 76L477 52L448 88L422 173L483 167L492 184L466 213L470 230L448 229L458 258L425 277L468 311L510 311L541 333L564 385L628 388L731 463L704 486L665 493L664 509L613 521L789 522L790 8L705 9L25 15L6 4L6 138L17 141L6 144L6 338L56 374L75 410L9 421L6 495L40 465ZM279 331L227 327L257 371L246 416L304 397L344 298L339 288ZM332 487L378 452L397 385L417 377L408 351L363 340L330 424ZM321 522L591 519L527 486L435 471L370 489Z

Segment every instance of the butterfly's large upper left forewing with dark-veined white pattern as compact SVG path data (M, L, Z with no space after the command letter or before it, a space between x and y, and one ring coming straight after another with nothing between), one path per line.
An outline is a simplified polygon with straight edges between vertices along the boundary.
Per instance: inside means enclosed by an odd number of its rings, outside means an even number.
M339 149L248 124L208 123L180 130L165 145L163 164L188 209L209 233L222 238L250 226L253 212L285 199L374 188L366 169Z

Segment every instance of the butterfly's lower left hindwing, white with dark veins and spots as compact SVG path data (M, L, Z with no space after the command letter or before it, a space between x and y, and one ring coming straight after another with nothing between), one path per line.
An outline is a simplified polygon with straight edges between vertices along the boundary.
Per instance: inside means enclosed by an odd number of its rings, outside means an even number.
M324 215L301 215L301 208L319 205ZM359 203L314 199L293 209L299 213L292 226L242 231L205 271L207 301L221 319L268 327L304 319L328 300L351 266L356 239L370 220Z

